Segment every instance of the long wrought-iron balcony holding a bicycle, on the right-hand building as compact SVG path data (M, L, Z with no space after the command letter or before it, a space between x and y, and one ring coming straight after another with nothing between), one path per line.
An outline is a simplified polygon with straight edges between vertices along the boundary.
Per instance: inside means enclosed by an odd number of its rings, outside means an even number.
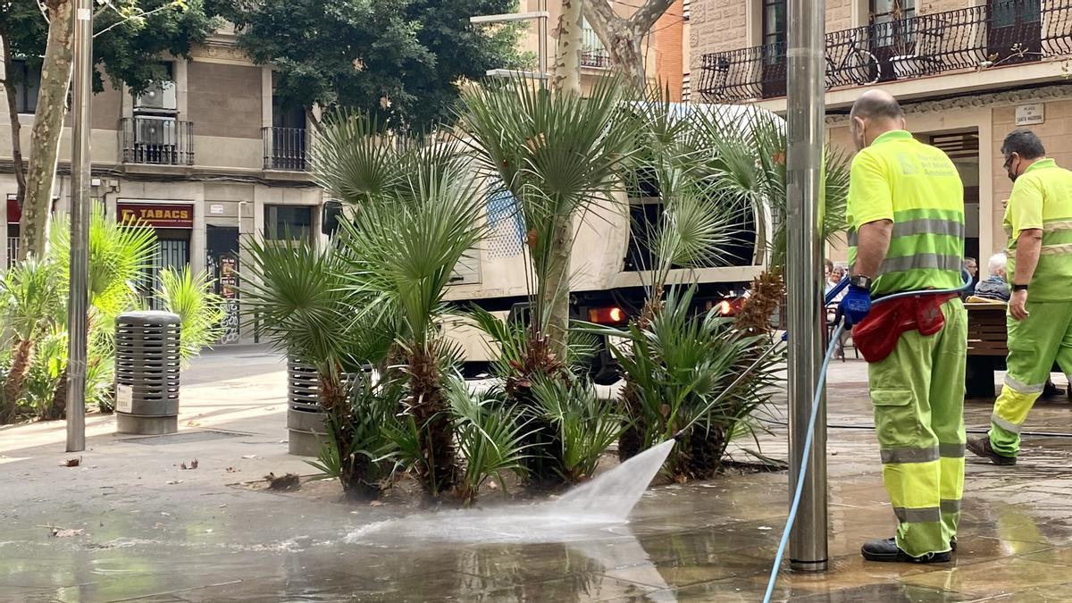
M827 34L827 89L1072 55L1072 0L1008 0ZM705 102L786 95L785 43L702 58Z

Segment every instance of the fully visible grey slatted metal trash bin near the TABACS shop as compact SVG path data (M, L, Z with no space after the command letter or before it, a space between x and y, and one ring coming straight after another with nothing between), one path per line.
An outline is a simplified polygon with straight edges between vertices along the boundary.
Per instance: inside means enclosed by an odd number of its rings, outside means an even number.
M179 317L128 312L116 319L116 431L179 430Z

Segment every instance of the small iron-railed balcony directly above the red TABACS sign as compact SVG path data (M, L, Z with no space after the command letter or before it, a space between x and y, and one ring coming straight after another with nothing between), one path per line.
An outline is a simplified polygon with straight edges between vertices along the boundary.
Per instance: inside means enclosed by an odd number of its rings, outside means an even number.
M123 163L193 165L194 126L174 117L123 119Z

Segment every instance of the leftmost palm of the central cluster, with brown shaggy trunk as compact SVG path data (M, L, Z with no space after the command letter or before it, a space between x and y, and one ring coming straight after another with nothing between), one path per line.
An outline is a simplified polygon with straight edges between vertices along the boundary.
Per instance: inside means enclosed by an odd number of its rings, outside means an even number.
M278 350L312 365L319 379L328 439L317 467L338 477L347 496L375 496L370 456L391 389L360 379L366 363L387 355L394 333L390 314L366 310L382 305L346 290L348 268L336 244L323 251L308 241L254 241L247 248L253 256L242 275L247 312L270 325L266 337Z

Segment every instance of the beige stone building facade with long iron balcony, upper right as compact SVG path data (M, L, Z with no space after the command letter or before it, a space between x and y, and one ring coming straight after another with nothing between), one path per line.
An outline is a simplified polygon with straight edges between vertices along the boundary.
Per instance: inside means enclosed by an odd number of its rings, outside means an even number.
M691 2L694 100L785 113L786 4ZM825 50L832 146L851 150L848 109L864 88L897 97L908 128L961 171L969 256L1006 245L1008 132L1031 128L1072 166L1072 0L827 0Z

